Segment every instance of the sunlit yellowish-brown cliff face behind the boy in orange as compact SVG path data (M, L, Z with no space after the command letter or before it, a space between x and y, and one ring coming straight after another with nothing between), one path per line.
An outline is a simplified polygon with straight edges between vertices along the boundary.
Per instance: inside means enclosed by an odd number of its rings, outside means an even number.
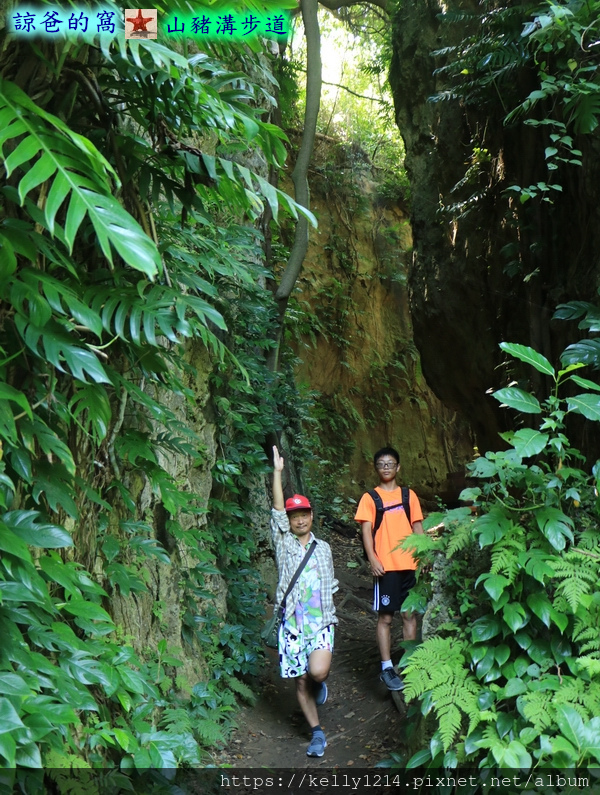
M422 497L455 495L453 473L463 471L473 442L467 423L423 377L406 281L407 212L378 198L359 151L323 140L311 206L319 228L299 281L299 308L308 311L296 343L303 360L297 376L319 393L331 456L349 465L346 495L372 487L372 455L385 444L400 451L401 479Z

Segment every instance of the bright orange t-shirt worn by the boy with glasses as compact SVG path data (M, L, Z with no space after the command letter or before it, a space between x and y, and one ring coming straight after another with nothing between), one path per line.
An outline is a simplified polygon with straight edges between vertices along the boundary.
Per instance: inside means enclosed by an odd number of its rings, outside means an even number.
M383 521L375 534L375 553L385 571L405 571L407 569L414 571L417 568L417 561L412 554L403 549L397 549L398 545L412 534L412 527L402 507L402 489L398 486L394 491L385 491L376 487L375 491L381 497L384 505L400 503L397 508L392 508L383 514ZM409 501L411 522L422 522L421 504L412 489L409 491ZM375 524L375 503L366 492L358 503L354 518L357 522Z

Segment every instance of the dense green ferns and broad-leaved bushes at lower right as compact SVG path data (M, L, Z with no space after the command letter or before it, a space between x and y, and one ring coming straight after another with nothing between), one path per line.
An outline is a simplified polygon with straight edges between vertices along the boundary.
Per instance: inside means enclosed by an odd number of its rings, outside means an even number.
M443 534L416 539L425 559L440 551L447 559L434 572L449 604L436 635L403 661L406 698L418 699L417 713L431 713L433 726L409 766L599 760L600 464L585 468L564 421L572 412L600 420L600 386L578 375L584 365L572 351L556 372L531 348L502 348L552 391L543 403L520 386L494 393L541 422L524 421L503 435L507 450L477 458L469 467L477 485L461 495L472 507L430 516Z

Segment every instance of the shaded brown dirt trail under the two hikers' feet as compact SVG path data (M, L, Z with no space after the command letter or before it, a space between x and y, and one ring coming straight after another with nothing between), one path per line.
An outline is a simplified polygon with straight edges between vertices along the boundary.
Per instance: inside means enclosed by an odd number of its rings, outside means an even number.
M327 735L325 755L321 759L306 756L309 731L296 701L293 681L279 677L277 652L270 649L258 701L238 716L238 729L219 763L241 768L372 768L388 758L391 751L401 750L404 702L396 696L396 706L379 681L376 617L370 610L371 577L362 569L347 566L348 561L360 560L355 539L332 533L331 547L340 590L335 595L339 624L327 680L329 698L319 708ZM401 639L397 617L393 640ZM399 656L399 651L393 653L394 662Z

